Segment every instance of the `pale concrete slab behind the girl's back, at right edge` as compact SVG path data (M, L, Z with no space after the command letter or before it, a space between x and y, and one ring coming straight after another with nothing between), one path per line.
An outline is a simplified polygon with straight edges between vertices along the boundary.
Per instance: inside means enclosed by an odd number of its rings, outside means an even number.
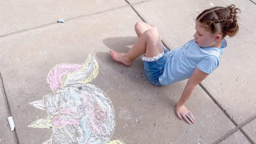
M249 16L256 14L256 5L251 5L250 1L237 2L237 5L242 11L240 31L228 39L228 49L221 57L220 67L202 84L230 117L242 125L256 115L256 17Z

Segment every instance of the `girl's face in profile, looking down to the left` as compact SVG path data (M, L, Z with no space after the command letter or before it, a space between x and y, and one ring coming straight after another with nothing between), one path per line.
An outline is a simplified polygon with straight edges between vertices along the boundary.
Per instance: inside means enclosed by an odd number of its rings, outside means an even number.
M221 40L220 35L212 34L207 31L200 22L195 21L195 42L200 47L219 47L219 40Z

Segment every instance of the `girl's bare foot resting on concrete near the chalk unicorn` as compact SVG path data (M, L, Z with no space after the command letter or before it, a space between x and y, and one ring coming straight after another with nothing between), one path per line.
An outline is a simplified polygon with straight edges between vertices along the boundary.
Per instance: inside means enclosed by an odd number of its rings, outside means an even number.
M126 55L125 55L126 53L118 53L116 51L110 50L110 54L114 61L122 63L126 66L130 66L133 63L133 61L126 58Z

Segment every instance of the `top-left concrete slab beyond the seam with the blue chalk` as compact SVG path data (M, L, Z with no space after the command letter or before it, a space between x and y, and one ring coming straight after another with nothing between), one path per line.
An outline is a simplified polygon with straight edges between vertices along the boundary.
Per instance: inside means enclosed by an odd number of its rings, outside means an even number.
M0 36L127 5L124 0L0 1Z

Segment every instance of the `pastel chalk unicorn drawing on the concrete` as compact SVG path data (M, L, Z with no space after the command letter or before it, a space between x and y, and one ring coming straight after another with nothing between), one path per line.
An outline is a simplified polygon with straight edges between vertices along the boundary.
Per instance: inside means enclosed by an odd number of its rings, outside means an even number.
M50 70L47 82L53 93L30 102L48 114L28 125L52 129L51 138L42 144L124 144L109 141L115 127L112 103L100 88L88 84L98 70L91 55L84 64L62 63Z

